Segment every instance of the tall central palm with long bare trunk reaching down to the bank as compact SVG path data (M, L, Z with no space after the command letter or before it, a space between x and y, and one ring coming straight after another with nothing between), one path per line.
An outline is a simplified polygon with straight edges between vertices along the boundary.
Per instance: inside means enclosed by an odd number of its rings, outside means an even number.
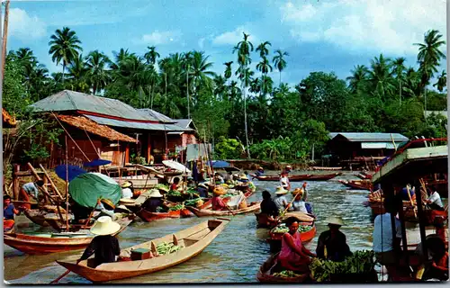
M233 53L238 51L238 64L240 65L241 70L244 72L243 79L245 81L241 82L243 85L243 97L244 97L244 123L245 123L245 132L246 132L246 141L247 141L247 157L250 158L250 148L248 146L248 130L247 130L247 66L251 63L250 52L253 51L253 44L248 40L249 34L244 34L244 40L238 42L238 45L233 49ZM238 71L237 71L238 73Z

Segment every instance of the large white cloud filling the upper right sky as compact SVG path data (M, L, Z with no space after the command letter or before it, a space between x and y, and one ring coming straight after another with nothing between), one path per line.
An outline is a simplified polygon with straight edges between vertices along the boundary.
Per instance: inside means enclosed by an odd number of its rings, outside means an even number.
M412 55L418 50L412 44L422 42L428 30L446 35L446 2L442 0L297 1L280 7L283 23L291 26L291 36L297 40Z

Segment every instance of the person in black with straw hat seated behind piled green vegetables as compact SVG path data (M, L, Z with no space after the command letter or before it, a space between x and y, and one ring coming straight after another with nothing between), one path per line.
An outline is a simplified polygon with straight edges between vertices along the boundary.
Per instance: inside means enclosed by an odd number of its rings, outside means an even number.
M339 231L339 228L344 226L344 221L340 217L331 216L325 222L329 224L329 230L320 234L316 249L317 257L342 262L352 255L346 235Z

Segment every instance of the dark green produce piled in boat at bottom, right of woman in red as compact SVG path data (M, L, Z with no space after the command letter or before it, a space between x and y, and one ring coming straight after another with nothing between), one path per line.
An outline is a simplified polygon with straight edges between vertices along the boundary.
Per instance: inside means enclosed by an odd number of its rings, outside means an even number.
M356 251L343 262L314 258L310 270L316 282L357 284L377 282L374 267L374 251L364 250Z

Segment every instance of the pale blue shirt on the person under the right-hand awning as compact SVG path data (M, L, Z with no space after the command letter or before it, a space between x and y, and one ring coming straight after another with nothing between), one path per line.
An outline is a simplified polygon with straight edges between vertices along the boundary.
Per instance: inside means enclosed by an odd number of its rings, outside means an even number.
M395 237L401 238L401 224L397 218L395 218ZM374 220L374 252L392 251L392 240L391 214L377 215Z

